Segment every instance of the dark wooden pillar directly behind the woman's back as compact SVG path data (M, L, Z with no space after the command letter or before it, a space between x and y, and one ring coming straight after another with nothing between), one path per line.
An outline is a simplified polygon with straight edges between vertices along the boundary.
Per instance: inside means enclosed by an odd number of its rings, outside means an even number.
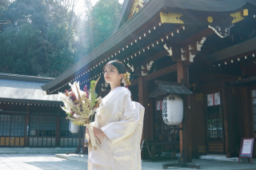
M142 139L149 139L149 114L148 114L148 93L147 82L143 77L138 77L138 102L145 108Z

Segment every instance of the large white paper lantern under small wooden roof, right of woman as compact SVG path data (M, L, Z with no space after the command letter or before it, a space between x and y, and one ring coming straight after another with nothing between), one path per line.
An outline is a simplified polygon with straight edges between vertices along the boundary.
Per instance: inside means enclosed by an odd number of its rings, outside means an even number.
M162 101L162 119L166 125L179 125L183 119L182 97L170 94Z

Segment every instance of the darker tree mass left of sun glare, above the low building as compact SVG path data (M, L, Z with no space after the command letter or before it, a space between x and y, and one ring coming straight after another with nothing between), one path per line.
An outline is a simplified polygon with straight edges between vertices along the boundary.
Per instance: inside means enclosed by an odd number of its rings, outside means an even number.
M54 0L11 3L2 16L11 24L0 34L0 71L57 77L73 65L72 9Z

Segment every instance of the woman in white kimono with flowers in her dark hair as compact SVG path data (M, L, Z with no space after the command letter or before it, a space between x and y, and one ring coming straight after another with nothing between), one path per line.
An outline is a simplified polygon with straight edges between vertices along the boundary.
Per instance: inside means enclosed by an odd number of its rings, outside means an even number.
M128 78L124 77L126 67L121 61L108 62L104 71L104 79L110 84L111 91L102 99L91 123L101 147L88 153L88 170L140 170L145 109L131 101L130 90L121 86L121 81ZM88 136L86 138L89 140Z

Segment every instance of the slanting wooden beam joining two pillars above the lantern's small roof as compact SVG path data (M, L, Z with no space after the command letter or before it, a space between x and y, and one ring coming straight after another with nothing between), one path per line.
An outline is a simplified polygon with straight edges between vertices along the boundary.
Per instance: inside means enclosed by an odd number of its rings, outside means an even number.
M144 76L143 80L144 81L150 81L150 80L153 80L155 78L162 77L162 76L164 76L168 73L174 73L176 71L177 71L177 65L176 64L175 65L170 65L170 66L168 66L164 69L160 69L160 70L158 70L154 73L150 73L150 74Z

